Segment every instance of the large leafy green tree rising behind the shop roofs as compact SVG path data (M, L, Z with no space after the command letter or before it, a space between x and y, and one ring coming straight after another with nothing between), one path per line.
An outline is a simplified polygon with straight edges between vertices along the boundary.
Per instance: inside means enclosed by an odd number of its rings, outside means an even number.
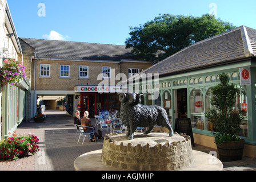
M160 14L143 26L130 27L130 38L125 44L126 48L133 47L138 60L160 61L195 42L233 28L233 24L209 14L202 17Z

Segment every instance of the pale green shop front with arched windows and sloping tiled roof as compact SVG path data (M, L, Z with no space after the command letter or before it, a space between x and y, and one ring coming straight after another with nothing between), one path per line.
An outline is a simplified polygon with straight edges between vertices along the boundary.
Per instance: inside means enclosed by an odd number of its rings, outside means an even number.
M211 107L210 88L219 83L221 73L228 74L230 82L239 88L234 109L246 111L238 134L246 142L244 155L256 158L255 55L256 30L241 26L194 43L153 65L141 74L157 73L159 79L141 79L134 89L142 94L142 104L165 108L173 128L176 118L190 118L195 143L216 148L213 126L205 112ZM149 92L152 88L158 92Z

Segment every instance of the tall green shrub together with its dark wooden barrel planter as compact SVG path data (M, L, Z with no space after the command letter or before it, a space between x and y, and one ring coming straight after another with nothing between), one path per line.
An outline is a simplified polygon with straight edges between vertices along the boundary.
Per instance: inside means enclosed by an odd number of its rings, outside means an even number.
M218 148L219 158L223 162L241 160L245 140L237 137L245 111L234 110L235 95L239 89L229 83L229 77L222 73L221 83L212 88L212 109L206 112L206 118L213 123L213 135Z

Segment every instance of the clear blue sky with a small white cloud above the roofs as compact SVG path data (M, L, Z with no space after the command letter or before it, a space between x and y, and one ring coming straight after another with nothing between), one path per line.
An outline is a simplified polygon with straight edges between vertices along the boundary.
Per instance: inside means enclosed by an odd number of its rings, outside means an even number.
M125 45L130 26L144 24L159 14L202 16L211 12L235 26L256 29L255 0L7 0L7 3L21 38Z

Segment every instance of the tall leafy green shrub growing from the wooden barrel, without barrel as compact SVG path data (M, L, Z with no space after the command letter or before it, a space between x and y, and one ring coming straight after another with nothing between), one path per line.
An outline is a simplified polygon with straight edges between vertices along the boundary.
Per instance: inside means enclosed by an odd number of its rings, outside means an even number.
M207 119L213 123L215 132L215 143L234 142L241 140L236 135L241 130L241 123L246 115L243 110L234 110L235 96L239 89L235 84L229 83L229 77L222 73L219 76L221 81L211 90L213 98L211 99L212 109L205 113Z

